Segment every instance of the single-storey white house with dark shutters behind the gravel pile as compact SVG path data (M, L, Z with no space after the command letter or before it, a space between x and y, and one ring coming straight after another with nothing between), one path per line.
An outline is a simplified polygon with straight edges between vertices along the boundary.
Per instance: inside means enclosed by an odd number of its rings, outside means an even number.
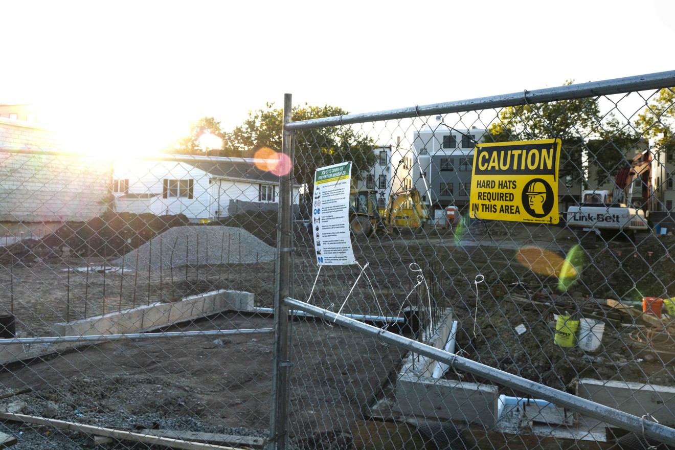
M181 158L178 157L178 160ZM278 206L279 177L255 160L117 161L113 194L117 212L184 214L190 221L219 219L242 210ZM293 202L298 203L298 187Z

